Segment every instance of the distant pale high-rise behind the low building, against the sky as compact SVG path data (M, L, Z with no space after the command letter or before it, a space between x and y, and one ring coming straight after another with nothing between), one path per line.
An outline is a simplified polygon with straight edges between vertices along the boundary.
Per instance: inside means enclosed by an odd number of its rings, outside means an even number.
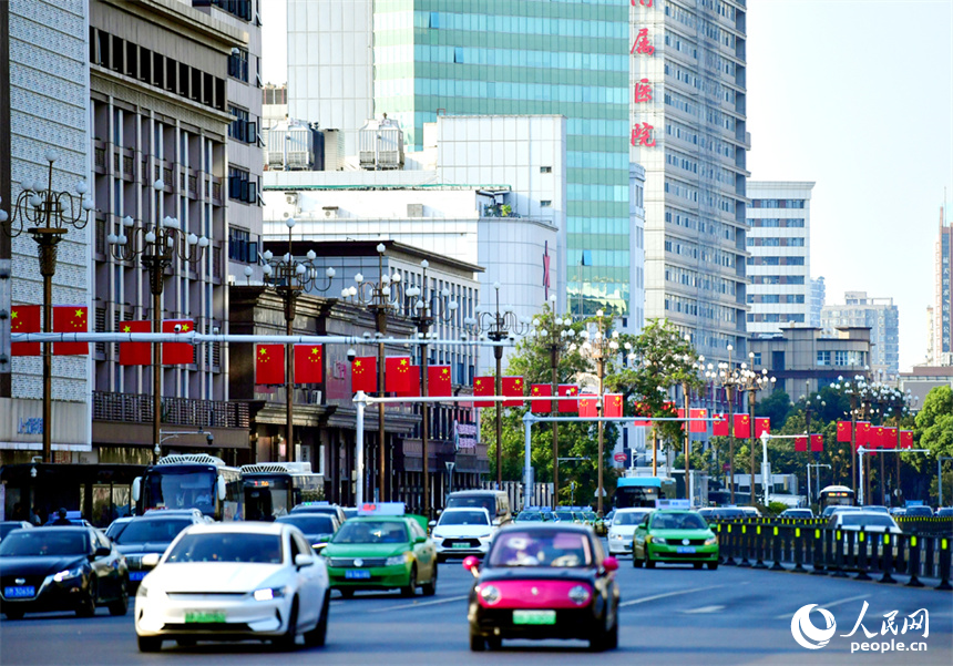
M821 327L833 335L838 328L870 329L870 370L874 378L895 379L900 373L900 312L893 298L870 298L867 291L846 291L843 305L821 309Z

